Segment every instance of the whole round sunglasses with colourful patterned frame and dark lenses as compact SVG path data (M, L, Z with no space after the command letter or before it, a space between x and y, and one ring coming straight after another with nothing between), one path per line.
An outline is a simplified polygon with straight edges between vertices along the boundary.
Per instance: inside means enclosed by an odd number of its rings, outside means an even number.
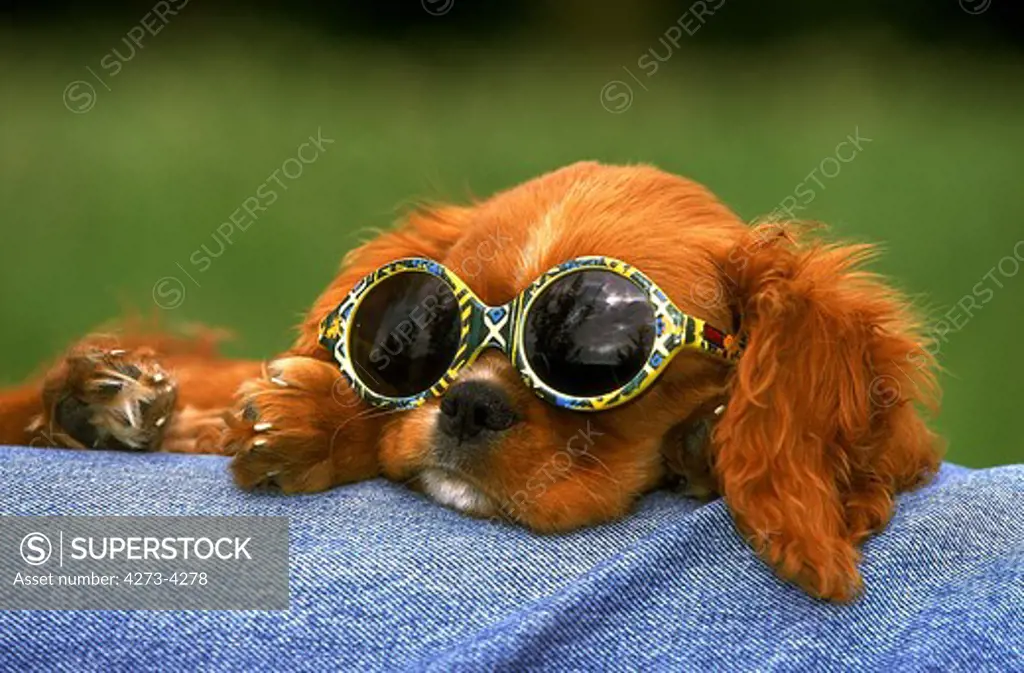
M385 409L443 394L486 348L503 351L542 398L579 411L633 399L682 350L734 360L742 349L610 257L559 264L503 306L485 305L436 261L398 259L321 322L319 343L356 393Z

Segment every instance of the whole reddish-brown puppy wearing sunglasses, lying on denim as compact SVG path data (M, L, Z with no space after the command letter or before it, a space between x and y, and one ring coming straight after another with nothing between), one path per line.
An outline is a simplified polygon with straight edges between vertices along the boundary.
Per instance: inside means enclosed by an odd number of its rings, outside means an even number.
M352 251L266 366L86 339L41 394L0 396L0 439L221 453L286 493L383 474L545 533L678 482L845 601L860 544L940 460L935 364L870 254L748 226L651 167L575 164Z

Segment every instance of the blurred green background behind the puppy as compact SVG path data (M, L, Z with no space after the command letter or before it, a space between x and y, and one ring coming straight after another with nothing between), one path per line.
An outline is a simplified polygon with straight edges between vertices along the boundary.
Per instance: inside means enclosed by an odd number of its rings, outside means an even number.
M4 14L0 382L131 310L224 326L237 334L229 352L269 356L345 251L409 204L483 197L581 159L648 162L750 219L809 183L798 216L882 243L877 270L933 324L957 317L939 352L949 459L1024 460L1016 24L995 7L967 11L984 0L954 0L920 30L870 12L788 30L798 24L726 2L676 46L660 40L690 3L588 13L535 2L523 16L474 16L471 4L346 20L346 3L326 17L307 3L189 3L130 58L123 38L146 3ZM638 60L650 49L664 60L648 76L650 56ZM94 97L68 90L78 80ZM627 100L608 95L616 80L632 100L612 113ZM217 226L317 129L335 142L282 178L288 190L208 268L189 261L203 245L220 250ZM870 142L823 177L821 162L858 129ZM820 185L808 181L815 169ZM957 302L984 289L989 300L965 318Z

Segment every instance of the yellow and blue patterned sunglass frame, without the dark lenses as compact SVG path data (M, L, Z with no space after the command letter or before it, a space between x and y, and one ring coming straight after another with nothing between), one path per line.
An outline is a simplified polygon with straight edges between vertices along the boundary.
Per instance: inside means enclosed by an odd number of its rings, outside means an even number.
M534 300L556 281L583 270L605 270L627 279L646 294L654 313L654 343L643 369L622 387L591 397L568 395L551 388L534 373L521 347L523 326ZM433 276L451 288L459 302L459 347L447 371L429 389L408 397L389 397L367 386L356 371L349 356L349 328L370 290L396 274L415 272ZM396 259L360 280L345 300L321 322L319 342L334 354L341 373L361 398L375 407L391 410L415 409L431 397L440 396L459 373L487 348L503 351L526 385L543 399L577 411L601 411L633 399L647 389L682 350L698 350L726 360L735 360L742 350L742 344L735 337L681 311L645 274L624 261L604 256L577 257L562 262L502 306L484 304L462 279L439 262L422 257Z

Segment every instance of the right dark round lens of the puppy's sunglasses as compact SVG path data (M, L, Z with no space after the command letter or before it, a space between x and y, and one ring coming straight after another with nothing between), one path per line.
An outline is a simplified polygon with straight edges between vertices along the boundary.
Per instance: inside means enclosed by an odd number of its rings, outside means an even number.
M604 270L555 281L523 326L530 368L555 390L577 397L611 392L643 369L654 344L654 311L629 280Z

